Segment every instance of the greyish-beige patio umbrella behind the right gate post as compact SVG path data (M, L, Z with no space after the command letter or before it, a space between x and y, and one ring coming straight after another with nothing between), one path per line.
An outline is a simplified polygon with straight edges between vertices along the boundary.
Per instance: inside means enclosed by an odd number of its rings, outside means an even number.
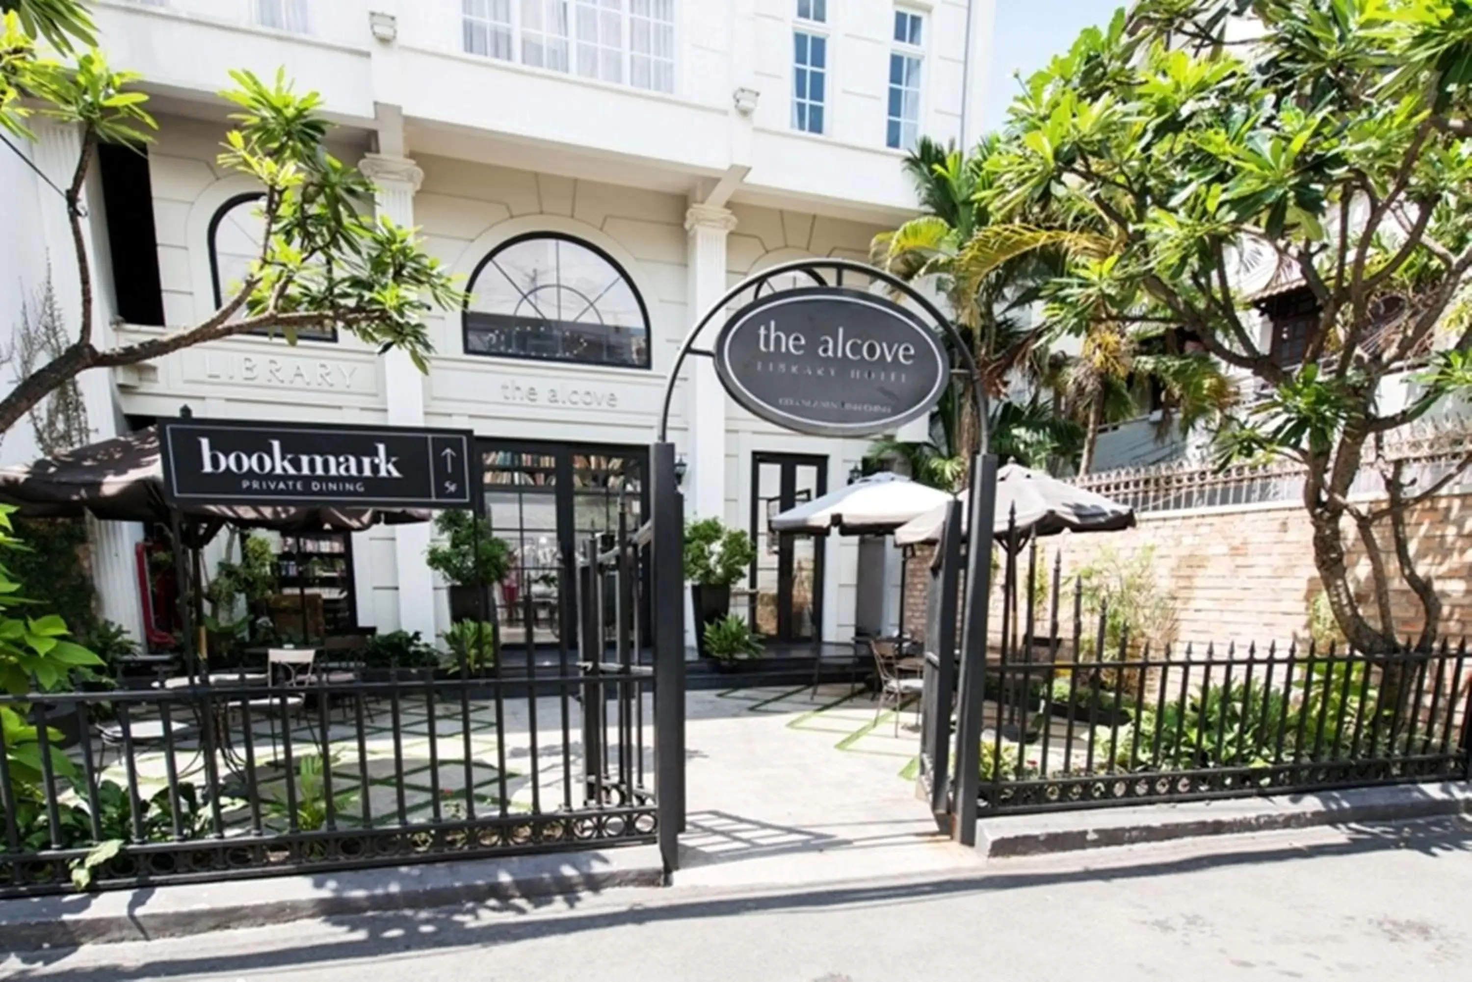
M960 495L966 523L967 495ZM1135 527L1135 509L1091 490L1060 481L1051 474L1020 464L997 471L997 521L994 536L1005 536L1017 509L1017 537L1054 536L1060 531L1114 531ZM945 527L945 504L895 530L896 546L939 542ZM963 524L963 527L966 527Z

